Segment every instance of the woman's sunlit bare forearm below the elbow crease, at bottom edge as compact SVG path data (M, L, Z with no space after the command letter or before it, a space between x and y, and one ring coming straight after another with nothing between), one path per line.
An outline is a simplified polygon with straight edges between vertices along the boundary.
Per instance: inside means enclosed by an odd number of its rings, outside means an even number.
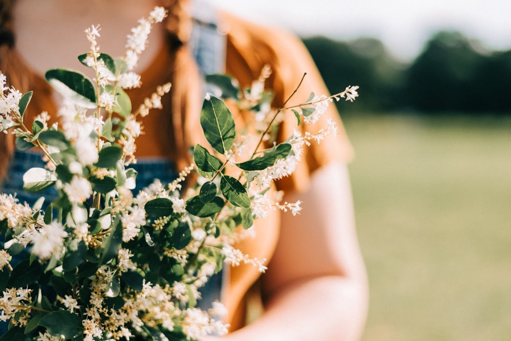
M284 287L264 315L229 341L358 340L367 309L365 280L324 276Z

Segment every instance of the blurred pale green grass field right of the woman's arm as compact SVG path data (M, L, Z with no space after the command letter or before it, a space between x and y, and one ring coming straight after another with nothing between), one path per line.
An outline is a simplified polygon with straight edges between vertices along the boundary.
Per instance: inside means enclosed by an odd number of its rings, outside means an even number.
M511 339L511 123L349 116L364 341Z

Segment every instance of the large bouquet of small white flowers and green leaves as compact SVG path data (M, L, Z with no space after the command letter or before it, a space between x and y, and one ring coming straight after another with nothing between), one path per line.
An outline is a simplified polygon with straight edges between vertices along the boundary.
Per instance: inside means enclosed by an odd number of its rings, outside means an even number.
M314 123L333 98L353 101L358 87L335 96L311 95L303 104L271 109L264 91L271 70L264 68L250 89L213 75L208 81L238 107L254 114L258 135L245 159L249 138L240 134L224 101L208 95L200 123L208 145L195 145L194 164L170 184L155 182L132 193L136 172L130 164L141 122L171 85L132 110L125 88L140 85L133 72L151 25L164 19L155 8L128 36L128 50L114 59L99 51L99 29L86 35L90 52L80 62L94 79L71 70L52 69L45 77L65 98L59 123L48 125L45 113L31 125L24 113L32 93L5 86L0 74L0 131L16 136L20 150L38 148L47 168L31 168L24 188L39 192L55 187L58 199L31 207L12 194L0 194L0 320L9 331L0 340L198 339L224 334L222 306L196 307L198 289L224 264L252 263L264 272L264 259L251 259L233 248L234 236L249 229L269 209L299 211L298 203L278 203L266 196L271 181L289 175L310 140L335 132L301 136L296 132L264 149L278 117L292 110L298 124ZM241 161L243 160L243 161ZM191 172L182 190L181 183ZM240 226L242 228L240 228ZM16 258L16 262L13 261Z

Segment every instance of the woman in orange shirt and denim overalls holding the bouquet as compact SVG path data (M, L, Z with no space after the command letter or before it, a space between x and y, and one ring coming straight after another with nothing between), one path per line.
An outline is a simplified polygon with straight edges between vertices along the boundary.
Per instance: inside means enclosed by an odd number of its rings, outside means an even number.
M156 85L173 83L170 96L163 103L164 109L146 117L146 133L137 140L139 163L156 160L163 164L162 174L146 172L148 179L171 177L169 173L189 163L188 148L198 138L195 132L200 131L196 127L203 96L201 72L225 71L242 86L248 86L257 79L263 65L269 64L273 73L267 85L275 92L275 106L280 106L293 92L304 72L307 77L293 97L296 102L305 100L312 91L326 92L304 46L294 36L226 13L218 13L210 20L214 12L198 11L193 18L187 0L3 0L1 3L0 66L15 88L22 92L34 90L26 114L29 121L42 110L55 113L58 99L41 76L52 67L79 67L76 56L87 47L85 28L99 23L100 44L105 46L105 52L118 56L124 53L126 34L141 15L149 13L155 5L169 10L166 25L154 27L148 48L138 62L144 85L130 92L136 107ZM204 4L195 8L203 10ZM225 35L212 33L212 28ZM211 39L204 39L208 29ZM211 41L215 42L211 44ZM218 60L211 62L215 56L222 56L220 66ZM225 70L218 69L222 66ZM329 110L326 116L338 119L335 109ZM326 125L326 119L319 125ZM281 135L289 136L293 128L293 122L284 122ZM10 135L1 135L0 176L8 182L13 168L6 165L14 155L14 147ZM278 183L285 190L284 200L299 199L303 201L303 209L297 216L274 213L259 221L255 239L245 240L238 246L251 257L271 260L261 278L250 265L231 270L229 283L223 287L226 295L222 297L230 312L227 322L231 324L231 332L225 339L353 340L360 337L367 289L345 165L350 152L344 135L329 137L307 151L306 162L300 163L292 177ZM16 155L12 163L18 164ZM142 177L144 172L139 172L137 181ZM11 182L12 186L15 184ZM264 313L245 325L247 293L254 290L260 290L263 295Z

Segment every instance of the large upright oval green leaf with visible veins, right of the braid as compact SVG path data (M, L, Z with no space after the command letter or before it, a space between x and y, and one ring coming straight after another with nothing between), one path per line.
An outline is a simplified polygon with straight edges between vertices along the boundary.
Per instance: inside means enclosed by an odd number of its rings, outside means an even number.
M236 136L236 128L233 114L222 100L215 96L204 100L200 125L211 147L220 154L229 151Z

